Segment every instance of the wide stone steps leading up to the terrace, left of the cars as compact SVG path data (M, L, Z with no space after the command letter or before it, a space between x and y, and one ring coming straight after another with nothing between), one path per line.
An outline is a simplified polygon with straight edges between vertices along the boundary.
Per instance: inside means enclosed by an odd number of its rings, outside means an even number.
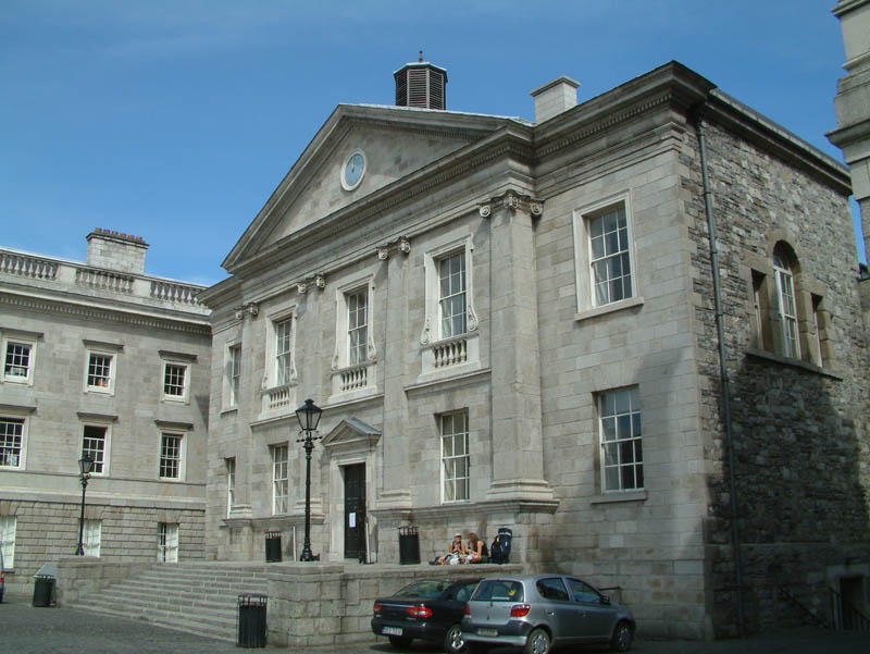
M268 594L262 564L154 564L75 603L76 608L152 621L221 640L236 640L238 595Z

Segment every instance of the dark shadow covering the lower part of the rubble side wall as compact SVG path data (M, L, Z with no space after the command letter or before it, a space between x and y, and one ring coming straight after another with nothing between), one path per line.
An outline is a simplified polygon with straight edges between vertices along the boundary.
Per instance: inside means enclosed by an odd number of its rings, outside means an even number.
M732 380L747 631L811 621L806 610L829 622L828 567L870 562L861 448L852 418L862 400L848 383L751 355ZM707 530L716 552L718 636L732 634L737 625L729 492L725 469L710 479L714 518Z

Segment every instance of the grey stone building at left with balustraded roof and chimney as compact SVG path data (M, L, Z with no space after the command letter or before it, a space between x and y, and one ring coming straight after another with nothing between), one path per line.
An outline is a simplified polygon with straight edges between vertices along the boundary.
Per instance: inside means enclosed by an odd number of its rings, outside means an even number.
M46 563L202 558L211 360L202 289L145 274L148 245L95 230L87 261L0 249L0 540L7 584Z

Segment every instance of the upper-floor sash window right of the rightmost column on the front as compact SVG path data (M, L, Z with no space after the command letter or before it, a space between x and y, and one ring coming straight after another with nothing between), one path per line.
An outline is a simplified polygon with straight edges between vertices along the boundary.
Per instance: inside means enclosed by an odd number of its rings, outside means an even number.
M602 307L632 297L632 266L629 254L629 221L625 205L584 217L589 240L592 297Z

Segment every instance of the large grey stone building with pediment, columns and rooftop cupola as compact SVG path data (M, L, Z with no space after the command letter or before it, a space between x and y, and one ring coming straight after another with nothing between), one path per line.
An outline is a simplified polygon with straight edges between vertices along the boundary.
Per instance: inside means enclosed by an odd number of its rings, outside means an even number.
M683 637L866 588L847 170L676 62L580 104L559 77L534 123L396 76L418 102L339 106L200 296L208 555L298 556L310 397L324 560L510 527L512 562Z

